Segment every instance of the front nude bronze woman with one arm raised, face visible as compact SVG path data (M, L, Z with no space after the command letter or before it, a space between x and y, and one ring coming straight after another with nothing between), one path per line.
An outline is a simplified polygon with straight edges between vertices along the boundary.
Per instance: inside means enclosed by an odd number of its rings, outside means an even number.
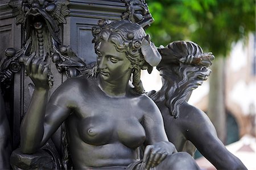
M35 92L21 125L22 152L36 152L65 121L75 169L199 169L189 154L176 153L158 107L143 94L141 69L160 61L143 28L127 20L99 24L93 29L98 76L70 78L49 102L49 68L40 58L26 61Z

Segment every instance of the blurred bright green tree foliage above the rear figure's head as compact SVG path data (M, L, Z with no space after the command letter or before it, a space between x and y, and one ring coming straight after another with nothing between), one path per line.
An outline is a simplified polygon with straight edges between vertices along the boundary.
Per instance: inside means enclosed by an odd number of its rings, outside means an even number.
M157 45L191 40L226 56L233 42L255 31L255 0L147 0L155 19L147 32Z

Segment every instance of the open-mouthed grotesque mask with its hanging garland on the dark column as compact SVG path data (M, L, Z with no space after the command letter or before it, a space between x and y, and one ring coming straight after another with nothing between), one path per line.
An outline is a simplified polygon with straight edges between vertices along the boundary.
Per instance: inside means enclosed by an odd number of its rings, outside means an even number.
M23 48L15 51L6 49L8 59L1 69L1 82L10 81L20 64L26 63L30 57L39 57L47 64L56 64L58 71L65 72L67 77L77 76L86 64L79 59L70 47L63 53L59 38L59 25L66 23L65 16L69 14L69 0L14 0L9 5L13 8L16 24L22 24L26 31ZM66 48L66 47L65 47ZM15 52L14 52L15 51ZM11 53L11 56L10 52ZM53 77L48 73L49 85L52 86Z

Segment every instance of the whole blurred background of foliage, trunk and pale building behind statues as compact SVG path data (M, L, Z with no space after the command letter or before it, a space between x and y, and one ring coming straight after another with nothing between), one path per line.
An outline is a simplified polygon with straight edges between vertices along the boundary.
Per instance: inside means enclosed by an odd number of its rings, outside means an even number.
M189 103L203 110L218 138L248 169L256 169L255 0L147 0L155 22L147 28L157 47L190 40L216 59L209 79L193 91ZM156 69L142 73L147 92L159 90ZM202 139L207 140L207 139ZM215 169L199 152L197 163Z

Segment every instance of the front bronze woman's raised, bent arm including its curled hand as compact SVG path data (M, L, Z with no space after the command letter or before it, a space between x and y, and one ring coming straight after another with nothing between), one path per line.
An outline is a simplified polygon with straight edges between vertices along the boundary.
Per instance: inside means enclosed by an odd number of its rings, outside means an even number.
M30 56L25 65L28 76L35 84L35 91L20 125L20 148L24 154L32 154L47 142L68 117L70 110L62 93L67 85L57 88L47 103L49 68L34 56ZM63 98L62 101L60 98Z

